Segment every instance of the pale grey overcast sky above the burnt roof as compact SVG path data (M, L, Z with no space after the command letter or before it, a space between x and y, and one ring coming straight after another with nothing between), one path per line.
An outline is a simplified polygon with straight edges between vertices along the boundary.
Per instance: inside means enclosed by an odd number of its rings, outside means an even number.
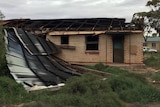
M126 18L148 11L148 0L0 0L5 19Z

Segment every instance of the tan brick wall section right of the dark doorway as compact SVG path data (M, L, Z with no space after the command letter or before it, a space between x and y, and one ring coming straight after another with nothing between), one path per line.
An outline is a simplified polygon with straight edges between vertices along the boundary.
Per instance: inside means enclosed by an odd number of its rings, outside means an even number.
M124 63L143 63L143 35L126 35L124 39Z

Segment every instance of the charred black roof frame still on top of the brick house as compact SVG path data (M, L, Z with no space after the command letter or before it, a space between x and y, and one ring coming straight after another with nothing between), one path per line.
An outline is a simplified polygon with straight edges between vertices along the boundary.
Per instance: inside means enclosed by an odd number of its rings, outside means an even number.
M142 30L140 24L125 23L124 18L81 18L81 19L14 19L6 20L5 26L23 28L28 31L107 31Z

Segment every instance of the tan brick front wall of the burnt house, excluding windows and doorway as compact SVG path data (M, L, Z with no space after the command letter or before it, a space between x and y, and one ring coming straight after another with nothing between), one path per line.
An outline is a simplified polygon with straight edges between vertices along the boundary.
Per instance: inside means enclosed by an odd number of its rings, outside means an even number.
M47 39L61 45L60 36L48 35ZM124 36L124 63L143 63L142 40L142 33ZM99 35L98 51L86 51L85 35L70 35L69 46L75 49L61 49L57 56L71 63L113 63L112 35Z

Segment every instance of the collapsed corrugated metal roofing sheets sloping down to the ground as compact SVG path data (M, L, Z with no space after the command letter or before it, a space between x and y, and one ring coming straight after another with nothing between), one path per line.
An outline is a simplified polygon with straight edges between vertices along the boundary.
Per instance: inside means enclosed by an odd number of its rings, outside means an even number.
M57 85L80 75L50 57L57 53L54 44L22 29L5 29L5 43L10 73L26 88Z

